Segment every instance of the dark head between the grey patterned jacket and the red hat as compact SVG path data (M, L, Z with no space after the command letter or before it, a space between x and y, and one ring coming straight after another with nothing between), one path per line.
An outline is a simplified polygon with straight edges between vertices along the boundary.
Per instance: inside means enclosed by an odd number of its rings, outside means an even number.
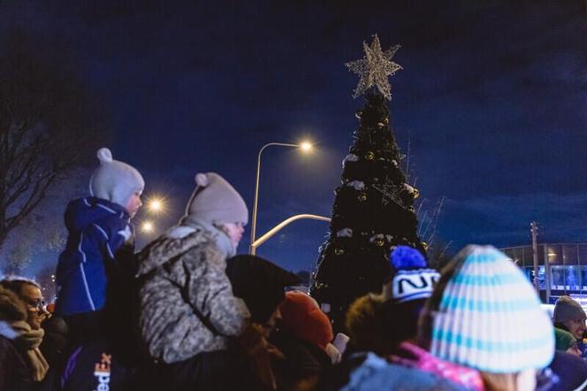
M275 326L278 307L285 297L285 288L300 283L292 272L262 257L239 255L226 261L226 275L233 294L240 297L251 312L251 320L270 332Z

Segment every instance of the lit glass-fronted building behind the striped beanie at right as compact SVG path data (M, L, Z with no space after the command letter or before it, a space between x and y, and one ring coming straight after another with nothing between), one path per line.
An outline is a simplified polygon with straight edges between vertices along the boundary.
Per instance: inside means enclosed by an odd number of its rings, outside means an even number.
M501 250L534 283L532 246ZM538 289L543 303L554 303L561 295L570 295L587 305L587 243L541 243L537 245L537 256Z

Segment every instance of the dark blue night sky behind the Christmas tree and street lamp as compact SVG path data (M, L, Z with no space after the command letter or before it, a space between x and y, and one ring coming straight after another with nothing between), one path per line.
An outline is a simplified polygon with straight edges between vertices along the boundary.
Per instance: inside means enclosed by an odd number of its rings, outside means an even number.
M528 244L537 220L539 241L587 242L582 1L4 1L0 22L65 48L103 99L114 157L141 171L146 196L167 197L160 230L199 172L221 173L252 211L258 150L305 138L312 155L263 153L257 233L330 217L363 104L344 63L377 33L384 50L402 46L390 120L422 211L445 197L438 239L453 252ZM258 254L310 270L327 228L294 223Z

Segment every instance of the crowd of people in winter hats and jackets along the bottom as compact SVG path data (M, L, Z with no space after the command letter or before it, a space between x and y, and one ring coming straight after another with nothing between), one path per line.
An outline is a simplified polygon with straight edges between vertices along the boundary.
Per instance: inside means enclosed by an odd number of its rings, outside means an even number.
M198 173L186 213L140 252L131 219L145 182L98 151L90 196L65 211L57 302L34 280L0 280L0 390L581 390L587 316L553 318L492 246L442 271L397 246L391 280L358 298L333 334L298 277L236 255L240 194Z

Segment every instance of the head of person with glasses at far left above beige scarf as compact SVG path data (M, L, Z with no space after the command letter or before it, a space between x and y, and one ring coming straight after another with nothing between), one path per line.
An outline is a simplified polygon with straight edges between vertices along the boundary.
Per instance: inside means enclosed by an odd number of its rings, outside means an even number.
M45 301L41 287L33 280L23 278L1 280L0 284L14 292L27 307L27 323L33 330L41 328L42 321L47 317Z

